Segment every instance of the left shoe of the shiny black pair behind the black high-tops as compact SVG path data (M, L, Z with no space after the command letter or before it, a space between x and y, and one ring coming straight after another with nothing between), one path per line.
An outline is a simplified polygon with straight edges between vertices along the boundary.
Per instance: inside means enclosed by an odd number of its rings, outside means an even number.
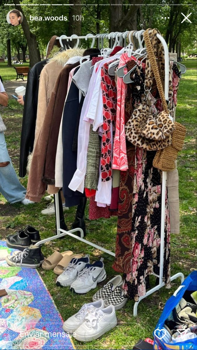
M15 235L9 235L6 239L6 244L9 248L22 251L28 248L32 244L32 241L25 231L20 230L16 232Z

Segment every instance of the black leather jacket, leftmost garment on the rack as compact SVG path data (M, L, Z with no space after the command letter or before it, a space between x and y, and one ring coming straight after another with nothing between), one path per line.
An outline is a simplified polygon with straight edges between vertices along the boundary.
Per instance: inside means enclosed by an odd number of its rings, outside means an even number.
M25 104L23 109L21 144L20 144L20 166L19 176L24 177L27 173L27 158L29 152L33 151L35 137L35 123L38 107L39 78L43 66L47 60L36 63L28 72L27 87L25 93Z

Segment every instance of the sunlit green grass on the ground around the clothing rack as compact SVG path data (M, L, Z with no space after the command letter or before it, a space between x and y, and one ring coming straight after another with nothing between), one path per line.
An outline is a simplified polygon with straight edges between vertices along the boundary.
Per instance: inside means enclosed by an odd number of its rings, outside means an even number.
M193 62L193 61L192 61ZM191 62L186 61L186 65ZM196 64L195 62L193 62ZM192 68L192 67L190 67ZM7 109L0 109L2 117L7 125L6 140L9 152L16 169L18 170L19 140L22 121L22 108L11 101ZM187 276L193 268L196 268L196 70L188 70L182 77L178 90L178 106L176 120L187 128L184 149L178 155L179 172L179 198L181 215L181 232L179 235L171 235L171 274L183 272ZM27 177L22 179L27 185ZM23 207L21 204L9 205L0 196L0 233L2 237L13 232L13 229L23 228L26 224L33 224L40 230L41 237L52 236L55 231L55 218L42 216L41 210L45 208L44 199L38 204ZM75 208L70 208L65 214L65 221L70 228L75 215ZM109 250L115 248L117 219L88 220L88 206L86 208L87 239L104 246ZM9 226L6 228L6 226ZM13 229L12 229L13 228ZM93 247L79 243L79 241L66 237L62 240L48 242L42 248L45 256L58 249L60 252L72 250L75 253L90 254L91 261L104 256L107 278L114 276L111 268L113 258L107 254L101 254ZM90 302L94 292L86 295L72 294L68 288L59 288L55 285L56 276L53 271L39 272L47 285L64 320L73 315L83 303ZM151 276L154 285L155 278ZM151 337L152 331L161 315L167 299L179 286L180 280L172 282L172 288L162 288L140 302L138 316L133 317L134 301L129 301L124 309L117 311L118 325L111 332L105 334L97 341L79 343L74 341L77 349L132 349L140 338ZM97 288L99 289L100 286ZM96 289L96 290L97 290Z

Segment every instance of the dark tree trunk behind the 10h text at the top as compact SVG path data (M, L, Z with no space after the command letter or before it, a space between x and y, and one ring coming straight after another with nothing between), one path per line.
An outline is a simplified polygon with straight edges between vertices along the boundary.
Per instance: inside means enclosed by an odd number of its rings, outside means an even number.
M81 19L79 21L76 20L76 16L81 16L81 0L74 0L74 6L70 6L69 11L69 28L68 35L71 36L73 34L81 35ZM75 6L77 5L77 6ZM73 18L75 16L75 18ZM74 47L76 40L71 41L70 45Z

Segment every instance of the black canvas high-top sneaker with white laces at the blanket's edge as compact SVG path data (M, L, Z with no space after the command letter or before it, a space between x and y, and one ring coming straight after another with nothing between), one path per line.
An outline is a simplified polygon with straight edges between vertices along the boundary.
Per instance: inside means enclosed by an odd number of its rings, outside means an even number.
M24 266L36 268L40 266L40 247L31 244L17 255L8 255L6 262L9 266Z

